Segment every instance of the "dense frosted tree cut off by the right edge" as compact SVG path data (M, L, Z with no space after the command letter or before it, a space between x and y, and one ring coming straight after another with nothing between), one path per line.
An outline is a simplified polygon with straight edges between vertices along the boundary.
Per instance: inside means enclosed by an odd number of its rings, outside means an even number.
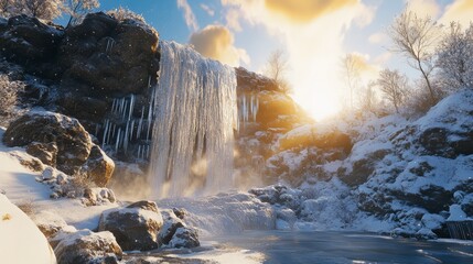
M439 75L448 89L473 88L473 23L462 31L459 23L452 22L437 55Z

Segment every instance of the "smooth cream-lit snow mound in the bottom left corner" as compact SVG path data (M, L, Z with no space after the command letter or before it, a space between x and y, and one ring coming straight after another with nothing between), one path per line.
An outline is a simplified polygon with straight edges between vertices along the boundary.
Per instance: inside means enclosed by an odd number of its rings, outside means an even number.
M56 263L44 234L23 211L1 194L0 251L2 263Z

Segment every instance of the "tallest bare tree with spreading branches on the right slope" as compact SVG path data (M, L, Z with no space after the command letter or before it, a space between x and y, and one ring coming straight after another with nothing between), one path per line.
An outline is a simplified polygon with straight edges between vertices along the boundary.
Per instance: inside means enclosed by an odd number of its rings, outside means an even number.
M395 52L404 54L409 65L422 74L432 105L437 99L430 75L433 70L432 51L440 37L439 29L430 16L419 18L408 9L397 16L388 29Z

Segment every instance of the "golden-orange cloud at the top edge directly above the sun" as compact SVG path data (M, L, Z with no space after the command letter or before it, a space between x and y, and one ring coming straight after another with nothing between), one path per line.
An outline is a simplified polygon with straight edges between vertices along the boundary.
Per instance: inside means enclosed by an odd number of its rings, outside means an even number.
M293 22L307 23L336 10L356 6L357 0L265 0L265 7Z

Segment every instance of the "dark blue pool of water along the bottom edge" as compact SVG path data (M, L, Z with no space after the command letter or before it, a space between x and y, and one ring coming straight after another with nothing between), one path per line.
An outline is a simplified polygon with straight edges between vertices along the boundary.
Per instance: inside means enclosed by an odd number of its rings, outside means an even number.
M248 231L212 240L225 248L260 253L264 263L473 263L473 241L456 243L366 233L283 231ZM225 263L222 258L219 262Z

